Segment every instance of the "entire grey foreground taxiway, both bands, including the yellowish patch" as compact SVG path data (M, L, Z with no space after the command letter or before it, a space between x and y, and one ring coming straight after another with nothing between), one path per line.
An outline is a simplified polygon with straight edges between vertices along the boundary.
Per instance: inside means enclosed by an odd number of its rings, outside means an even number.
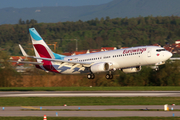
M40 106L21 106L21 107L6 107L0 112L0 116L42 116L47 117L180 117L179 111L78 111L81 109L162 109L163 105L134 105L134 106L42 106L42 109L77 109L77 111L41 111ZM180 106L174 106L175 109L180 109ZM22 109L36 109L38 111L22 111Z

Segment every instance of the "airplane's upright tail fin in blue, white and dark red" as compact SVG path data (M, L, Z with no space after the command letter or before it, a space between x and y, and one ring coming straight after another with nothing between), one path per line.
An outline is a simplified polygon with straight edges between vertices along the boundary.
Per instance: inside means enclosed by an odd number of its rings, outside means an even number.
M53 53L35 28L29 28L36 57L64 59L65 56Z

